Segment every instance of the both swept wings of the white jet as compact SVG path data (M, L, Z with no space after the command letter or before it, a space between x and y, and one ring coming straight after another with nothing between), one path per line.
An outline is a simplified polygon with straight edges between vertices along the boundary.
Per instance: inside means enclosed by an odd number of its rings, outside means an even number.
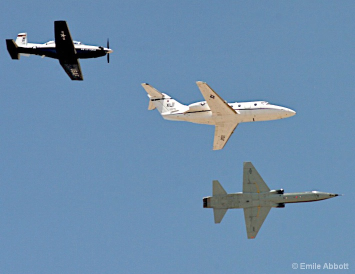
M206 100L212 115L224 116L220 122L216 122L214 128L213 150L222 149L228 141L230 135L234 132L238 122L235 121L235 111L225 100L223 100L210 86L201 81L196 82L202 96ZM225 116L232 116L230 119Z

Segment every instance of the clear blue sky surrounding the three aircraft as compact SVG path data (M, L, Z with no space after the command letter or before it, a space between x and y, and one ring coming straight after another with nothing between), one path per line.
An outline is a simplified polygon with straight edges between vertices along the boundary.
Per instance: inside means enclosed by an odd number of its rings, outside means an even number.
M353 1L13 0L0 15L1 273L354 271ZM110 63L80 59L71 81L56 59L11 60L5 39L53 40L54 20L109 38ZM195 81L297 114L213 151L213 126L162 119L140 86L190 104ZM242 190L243 161L271 189L344 195L272 208L247 239L242 209L214 224L202 207L214 179Z

